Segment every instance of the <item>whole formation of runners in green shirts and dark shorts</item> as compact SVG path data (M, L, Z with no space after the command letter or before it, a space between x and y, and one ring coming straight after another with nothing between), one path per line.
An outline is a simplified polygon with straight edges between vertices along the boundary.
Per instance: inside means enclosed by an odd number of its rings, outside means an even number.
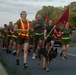
M33 50L32 59L36 59L36 50L40 50L45 47L47 50L54 47L56 32L56 25L53 25L52 19L48 20L47 25L44 24L42 16L38 14L36 20L29 22L27 19L26 11L20 13L20 19L17 22L9 22L9 25L4 24L3 28L0 28L0 44L3 47L3 51L16 55L16 64L19 65L20 52L24 51L24 68L27 68L27 54L30 54L30 50ZM61 44L63 59L67 59L67 53L70 46L70 35L72 29L69 28L69 22L65 22L64 28L60 30L58 36L62 36Z

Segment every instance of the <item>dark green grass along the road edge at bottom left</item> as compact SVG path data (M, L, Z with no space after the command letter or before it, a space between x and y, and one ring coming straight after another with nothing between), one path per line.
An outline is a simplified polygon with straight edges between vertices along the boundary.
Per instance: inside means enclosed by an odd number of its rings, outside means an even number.
M31 75L30 70L25 70L19 73L20 69L18 68L18 66L16 64L13 64L12 67L10 67L9 64L5 61L5 59L1 55L0 55L0 62L2 63L8 75Z

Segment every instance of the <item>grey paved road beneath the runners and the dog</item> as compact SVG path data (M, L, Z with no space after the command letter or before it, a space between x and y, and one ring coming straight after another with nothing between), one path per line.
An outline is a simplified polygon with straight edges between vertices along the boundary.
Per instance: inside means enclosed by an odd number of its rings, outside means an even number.
M61 47L57 48L58 52L60 52ZM0 55L7 63L7 66L11 72L14 72L16 75L76 75L76 48L74 47L70 47L69 53L71 54L67 56L67 60L63 60L58 53L56 60L50 63L50 72L46 72L42 69L42 60L40 65L38 65L37 59L32 60L32 54L28 55L28 68L23 69L23 52L21 52L20 55L20 65L16 66L16 57L12 54L7 54L6 52L2 51L1 47L0 49Z

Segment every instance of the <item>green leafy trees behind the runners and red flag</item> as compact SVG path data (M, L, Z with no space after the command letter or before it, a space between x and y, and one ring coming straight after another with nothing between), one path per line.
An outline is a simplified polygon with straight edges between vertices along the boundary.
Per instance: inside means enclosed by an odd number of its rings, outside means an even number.
M76 27L76 2L72 2L69 5L70 5L69 21L72 26ZM53 22L55 23L59 19L59 17L64 13L67 6L64 7L43 6L42 9L36 13L36 15L41 14L43 17L43 21L45 22L46 14L48 13L49 18L52 19Z

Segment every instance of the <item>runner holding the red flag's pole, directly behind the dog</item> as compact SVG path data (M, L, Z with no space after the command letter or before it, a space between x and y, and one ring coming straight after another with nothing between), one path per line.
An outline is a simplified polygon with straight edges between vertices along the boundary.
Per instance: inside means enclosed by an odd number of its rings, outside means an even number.
M49 36L47 37L48 34ZM54 34L54 25L52 24L52 20L49 19L48 25L46 25L46 28L44 30L44 39L46 40L46 49L52 48L54 46L55 38L53 34Z

